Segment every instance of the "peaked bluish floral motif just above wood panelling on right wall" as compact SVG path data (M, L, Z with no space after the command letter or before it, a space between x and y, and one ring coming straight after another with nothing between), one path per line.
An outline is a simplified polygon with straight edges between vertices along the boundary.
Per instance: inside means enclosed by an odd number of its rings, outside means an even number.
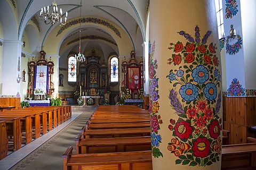
M231 81L227 91L227 96L245 96L245 89L239 83L237 78Z

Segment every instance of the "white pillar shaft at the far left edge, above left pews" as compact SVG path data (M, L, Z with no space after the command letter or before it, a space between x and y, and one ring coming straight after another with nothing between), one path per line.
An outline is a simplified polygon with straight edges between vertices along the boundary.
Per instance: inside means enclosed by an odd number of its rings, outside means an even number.
M21 45L19 40L4 40L2 58L2 94L20 97Z

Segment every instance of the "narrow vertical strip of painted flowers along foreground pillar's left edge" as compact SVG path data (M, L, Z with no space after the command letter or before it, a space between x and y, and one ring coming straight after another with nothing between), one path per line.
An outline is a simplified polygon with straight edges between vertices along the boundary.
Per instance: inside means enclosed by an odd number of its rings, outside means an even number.
M159 115L159 103L158 99L160 96L158 95L158 80L156 77L156 70L158 69L157 60L153 59L155 52L155 41L151 47L149 42L149 112L150 112L150 123L151 123L151 146L152 153L154 157L162 156L162 152L159 150L159 145L162 142L162 137L158 134L158 130L160 130L160 125L163 123L161 119L161 115Z

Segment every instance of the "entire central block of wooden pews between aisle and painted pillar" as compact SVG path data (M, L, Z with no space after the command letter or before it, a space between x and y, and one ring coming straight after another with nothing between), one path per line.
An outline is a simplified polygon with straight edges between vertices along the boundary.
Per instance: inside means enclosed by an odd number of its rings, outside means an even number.
M149 111L99 106L76 138L76 153L62 155L63 169L152 169Z

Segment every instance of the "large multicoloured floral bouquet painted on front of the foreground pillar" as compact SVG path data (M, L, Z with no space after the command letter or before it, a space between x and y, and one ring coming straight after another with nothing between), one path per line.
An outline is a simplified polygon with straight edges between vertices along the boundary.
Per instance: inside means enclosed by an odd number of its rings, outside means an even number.
M170 81L169 99L177 120L168 126L173 138L167 149L177 157L175 164L209 166L220 160L221 75L217 47L207 43L211 31L201 36L198 26L195 37L185 31L179 35L186 43L170 43L173 54L167 60L171 66L166 78Z

